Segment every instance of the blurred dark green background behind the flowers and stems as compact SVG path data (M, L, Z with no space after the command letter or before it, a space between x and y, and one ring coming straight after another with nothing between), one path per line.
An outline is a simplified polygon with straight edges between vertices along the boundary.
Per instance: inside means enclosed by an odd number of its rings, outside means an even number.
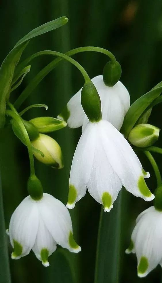
M113 52L121 64L121 81L129 90L131 102L162 80L161 0L12 0L10 2L1 0L0 61L3 61L16 42L26 33L60 16L67 16L69 22L55 31L32 39L23 53L22 60L40 50L66 52L86 45L106 48ZM107 62L106 56L94 52L81 53L73 58L83 65L91 78L102 74L104 64ZM29 81L53 59L51 56L43 56L33 60L31 72L26 75L21 86L11 94L11 101L14 102ZM37 86L21 107L22 110L29 104L45 103L48 105L48 111L30 110L24 115L24 119L44 115L57 117L69 98L82 85L83 78L79 71L70 63L60 63ZM149 123L161 128L161 105L153 109ZM81 129L64 128L50 135L62 147L64 168L54 170L35 160L36 173L44 191L66 204L70 165ZM161 141L160 135L157 146L161 147ZM161 156L156 153L153 156L162 170ZM150 179L146 182L153 192L156 188L155 175L146 157L142 154L139 157L144 169L151 173ZM29 176L27 150L14 136L11 128L1 132L0 159L5 223L8 228L13 211L27 195L26 182ZM135 219L149 206L150 203L134 197L123 189L120 201L114 204L114 211L105 216L106 227L109 227L109 230L105 233L107 244L103 245L103 254L106 255L103 269L107 275L104 281L100 279L98 283L162 282L159 266L146 278L140 279L136 272L136 256L125 255ZM18 261L10 260L12 283L93 282L100 209L101 206L87 193L70 211L74 237L82 247L79 254L72 254L58 247L49 257L48 268L41 265L33 252ZM120 209L121 217L118 213ZM114 227L120 228L118 261L115 261L115 265L111 262L117 252L117 243L112 240L116 239ZM9 241L8 247L10 258L12 248ZM111 273L118 271L119 276L113 279ZM102 270L100 272L102 273Z

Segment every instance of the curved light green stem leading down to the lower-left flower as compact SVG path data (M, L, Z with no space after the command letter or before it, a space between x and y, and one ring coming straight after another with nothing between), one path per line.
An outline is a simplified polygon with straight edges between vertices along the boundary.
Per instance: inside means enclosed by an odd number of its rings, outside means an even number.
M13 110L6 110L6 114L11 116L18 123L18 125L19 125L19 127L20 127L20 129L21 129L21 131L22 131L22 133L24 135L24 138L26 140L26 145L27 145L27 148L28 148L28 154L29 154L29 160L30 160L30 168L31 168L31 175L35 175L34 157L33 157L32 145L31 145L28 133L26 131L26 128L25 128L25 126L24 126L24 124L22 122L22 119L16 112L17 111L14 110L14 107L13 107Z

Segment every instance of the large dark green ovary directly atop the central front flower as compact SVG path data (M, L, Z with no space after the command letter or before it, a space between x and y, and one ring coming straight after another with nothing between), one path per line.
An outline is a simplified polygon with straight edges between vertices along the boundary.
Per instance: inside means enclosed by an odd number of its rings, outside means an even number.
M85 82L81 90L81 105L89 121L99 122L102 119L100 96L92 81Z

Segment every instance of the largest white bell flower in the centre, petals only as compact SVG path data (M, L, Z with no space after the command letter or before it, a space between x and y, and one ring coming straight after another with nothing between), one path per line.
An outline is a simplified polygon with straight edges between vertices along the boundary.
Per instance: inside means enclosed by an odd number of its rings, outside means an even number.
M154 199L144 178L150 175L123 135L108 121L89 122L74 153L67 208L86 193L110 211L122 185L146 201Z

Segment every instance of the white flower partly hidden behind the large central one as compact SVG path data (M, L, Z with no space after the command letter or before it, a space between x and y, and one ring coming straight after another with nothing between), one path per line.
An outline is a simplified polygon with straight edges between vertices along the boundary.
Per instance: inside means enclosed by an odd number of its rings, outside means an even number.
M102 75L94 77L92 82L101 99L103 119L109 121L115 128L120 130L124 116L130 107L129 92L121 81L118 81L115 86L106 86ZM83 125L83 132L89 120L81 106L81 90L82 88L69 100L67 109L58 115L58 119L68 118L67 124L70 128L77 128Z

